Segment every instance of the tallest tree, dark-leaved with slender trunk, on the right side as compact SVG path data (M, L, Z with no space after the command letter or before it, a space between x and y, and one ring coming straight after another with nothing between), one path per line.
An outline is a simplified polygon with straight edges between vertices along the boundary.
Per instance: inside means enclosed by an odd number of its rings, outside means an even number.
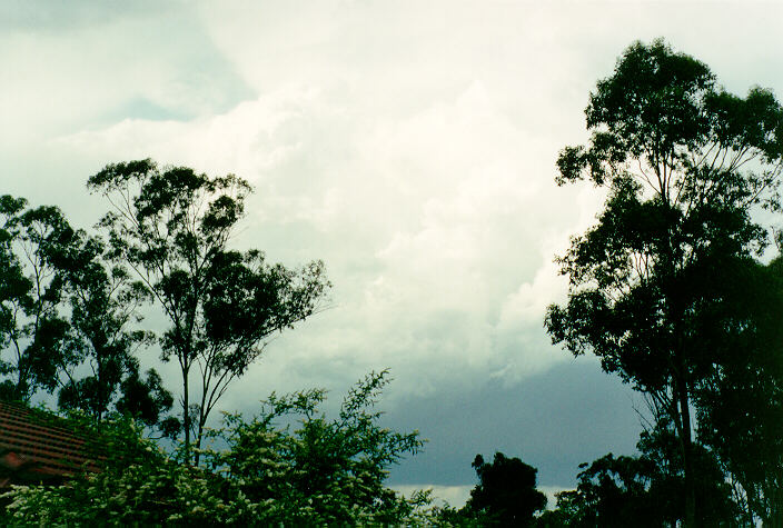
M585 113L589 145L561 151L557 181L587 178L609 193L597 225L558 259L568 300L549 307L545 326L553 342L592 351L671 419L694 526L691 406L732 353L707 343L742 327L716 317L732 270L766 243L751 211L780 210L783 110L769 90L727 93L705 64L657 40L625 51Z

